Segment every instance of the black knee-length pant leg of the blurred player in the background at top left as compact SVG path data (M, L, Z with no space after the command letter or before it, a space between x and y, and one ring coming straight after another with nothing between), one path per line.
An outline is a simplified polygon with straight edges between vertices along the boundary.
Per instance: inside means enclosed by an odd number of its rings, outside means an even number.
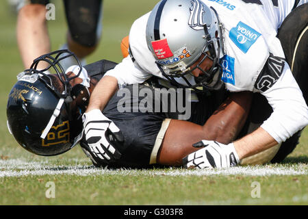
M102 0L64 0L64 7L73 40L84 47L97 44Z

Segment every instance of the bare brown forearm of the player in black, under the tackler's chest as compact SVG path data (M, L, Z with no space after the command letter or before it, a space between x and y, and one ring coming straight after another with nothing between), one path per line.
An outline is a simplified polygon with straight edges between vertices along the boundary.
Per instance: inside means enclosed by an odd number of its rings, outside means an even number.
M231 93L203 126L207 140L229 144L242 130L251 107L252 93Z

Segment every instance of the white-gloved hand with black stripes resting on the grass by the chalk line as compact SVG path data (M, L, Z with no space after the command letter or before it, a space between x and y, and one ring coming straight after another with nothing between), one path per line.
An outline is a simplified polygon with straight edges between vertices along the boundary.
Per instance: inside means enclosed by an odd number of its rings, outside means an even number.
M192 146L195 148L205 147L183 158L185 168L229 168L237 166L240 162L233 143L226 145L202 140Z

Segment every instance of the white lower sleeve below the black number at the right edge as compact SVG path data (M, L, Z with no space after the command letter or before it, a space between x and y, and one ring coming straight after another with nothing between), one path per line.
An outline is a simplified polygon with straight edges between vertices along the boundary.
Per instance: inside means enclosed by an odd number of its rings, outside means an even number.
M305 99L287 64L279 80L262 94L266 96L273 112L261 127L274 140L284 142L308 125Z

